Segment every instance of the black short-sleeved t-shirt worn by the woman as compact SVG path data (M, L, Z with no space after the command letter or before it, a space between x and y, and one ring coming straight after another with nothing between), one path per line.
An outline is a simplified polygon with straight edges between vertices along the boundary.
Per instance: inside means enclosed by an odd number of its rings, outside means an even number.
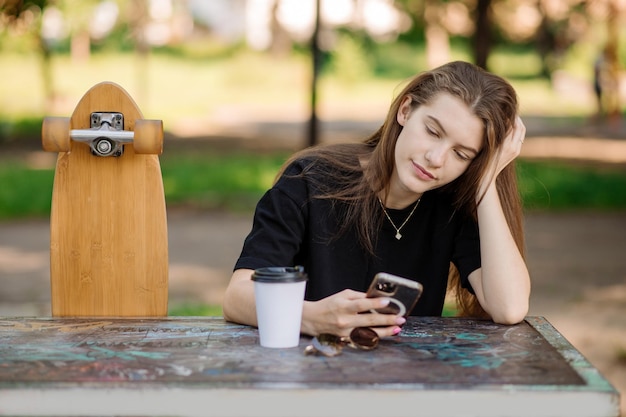
M377 272L388 272L422 283L424 292L411 312L422 316L441 315L450 262L458 268L463 286L470 288L467 276L480 268L478 225L454 209L450 196L440 190L424 193L400 240L385 218L372 256L359 244L354 229L336 237L342 203L315 198L320 190L311 180L317 176L317 181L328 181L332 176L323 169L298 176L308 165L303 160L292 163L261 198L234 269L302 265L309 276L305 299L310 301L346 288L366 291ZM387 212L400 225L412 209L410 205Z

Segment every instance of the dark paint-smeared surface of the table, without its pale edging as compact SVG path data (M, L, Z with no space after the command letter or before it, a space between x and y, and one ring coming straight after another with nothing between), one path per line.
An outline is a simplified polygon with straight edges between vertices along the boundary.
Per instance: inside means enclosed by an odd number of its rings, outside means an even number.
M531 325L412 318L373 351L337 357L259 346L257 329L220 318L0 319L0 386L161 383L581 385Z

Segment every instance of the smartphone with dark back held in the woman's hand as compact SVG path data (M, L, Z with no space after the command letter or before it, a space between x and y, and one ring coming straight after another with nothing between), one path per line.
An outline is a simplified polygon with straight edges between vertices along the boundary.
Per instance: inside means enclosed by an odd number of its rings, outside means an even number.
M406 317L417 304L423 289L424 287L419 282L379 272L374 276L367 290L367 297L388 297L391 300L388 306L372 310L372 313L397 314Z

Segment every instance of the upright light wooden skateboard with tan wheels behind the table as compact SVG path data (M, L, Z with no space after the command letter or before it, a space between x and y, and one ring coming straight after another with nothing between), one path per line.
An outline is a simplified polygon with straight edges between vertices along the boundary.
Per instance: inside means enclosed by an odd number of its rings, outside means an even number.
M103 82L70 118L44 119L42 145L59 153L50 213L52 315L167 315L162 121L143 119L123 88Z

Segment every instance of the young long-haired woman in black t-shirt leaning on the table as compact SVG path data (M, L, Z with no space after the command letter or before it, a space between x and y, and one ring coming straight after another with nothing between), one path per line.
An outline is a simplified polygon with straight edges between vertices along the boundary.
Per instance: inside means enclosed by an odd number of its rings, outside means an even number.
M377 272L419 281L412 315L461 314L514 324L528 312L522 210L513 160L526 128L502 78L451 62L412 79L363 143L295 154L259 201L226 290L226 320L257 325L254 269L302 265L309 280L302 333L346 336L405 319L360 314Z

